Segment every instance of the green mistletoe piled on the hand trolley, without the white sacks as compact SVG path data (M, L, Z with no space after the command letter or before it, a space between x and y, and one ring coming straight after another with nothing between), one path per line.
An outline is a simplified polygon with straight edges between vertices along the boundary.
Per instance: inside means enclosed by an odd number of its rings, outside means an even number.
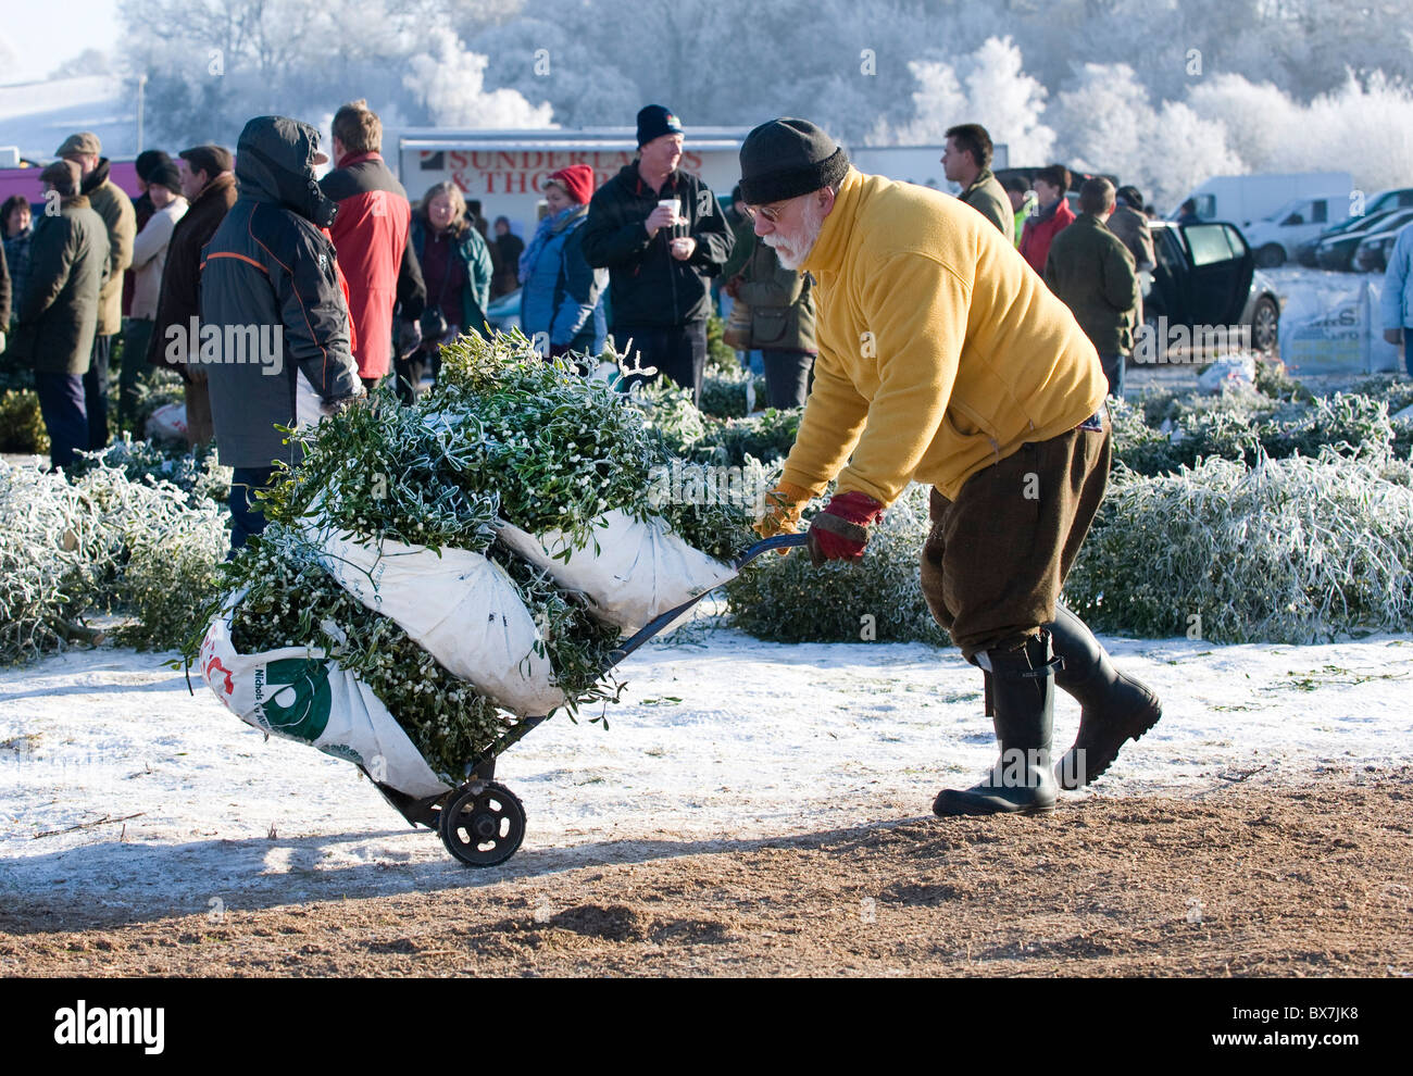
M333 654L369 683L428 764L456 779L516 719L348 597L304 537L311 518L359 541L469 549L499 563L540 627L571 717L616 698L603 671L619 631L497 545L502 520L584 545L605 511L619 508L643 521L661 518L723 559L755 538L746 506L654 503L663 469L699 465L675 458L629 395L565 363L545 363L519 335L495 343L463 337L442 350L437 390L415 407L383 395L301 438L304 462L264 503L271 527L223 569L222 593L244 590L233 641L242 652L308 645ZM215 604L205 610L188 659L215 613Z

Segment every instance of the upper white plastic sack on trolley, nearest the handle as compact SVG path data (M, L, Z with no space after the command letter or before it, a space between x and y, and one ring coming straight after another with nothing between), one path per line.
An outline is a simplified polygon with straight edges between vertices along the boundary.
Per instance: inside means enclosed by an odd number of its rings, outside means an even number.
M593 616L625 634L736 575L671 534L663 520L643 522L617 508L598 520L592 541L578 546L561 531L533 535L512 524L497 538L562 589L582 593Z

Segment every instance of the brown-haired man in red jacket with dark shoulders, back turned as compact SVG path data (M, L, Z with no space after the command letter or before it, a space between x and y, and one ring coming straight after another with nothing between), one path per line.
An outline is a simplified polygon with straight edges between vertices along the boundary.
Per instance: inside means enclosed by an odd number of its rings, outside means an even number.
M335 169L319 181L325 198L339 203L331 229L339 268L348 278L353 321L353 357L363 387L372 391L393 357L393 308L401 305L400 350L417 346L417 319L427 304L422 271L407 230L407 192L383 162L383 124L366 100L333 114Z

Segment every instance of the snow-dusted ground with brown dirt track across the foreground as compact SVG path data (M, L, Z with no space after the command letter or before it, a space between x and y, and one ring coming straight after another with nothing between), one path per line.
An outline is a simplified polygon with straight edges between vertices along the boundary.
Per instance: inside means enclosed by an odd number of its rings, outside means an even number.
M485 871L153 655L49 658L0 674L0 974L1413 974L1413 638L1106 644L1163 723L948 822L992 751L955 651L649 647L608 731L502 760Z

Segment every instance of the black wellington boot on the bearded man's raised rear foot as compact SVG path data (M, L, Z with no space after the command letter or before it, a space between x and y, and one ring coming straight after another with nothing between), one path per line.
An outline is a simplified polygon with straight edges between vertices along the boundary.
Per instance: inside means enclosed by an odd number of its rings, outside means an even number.
M1056 767L1060 787L1075 789L1108 770L1125 741L1157 724L1163 705L1147 685L1115 669L1088 626L1063 604L1056 603L1047 627L1056 655L1064 659L1056 685L1080 703L1080 733Z

